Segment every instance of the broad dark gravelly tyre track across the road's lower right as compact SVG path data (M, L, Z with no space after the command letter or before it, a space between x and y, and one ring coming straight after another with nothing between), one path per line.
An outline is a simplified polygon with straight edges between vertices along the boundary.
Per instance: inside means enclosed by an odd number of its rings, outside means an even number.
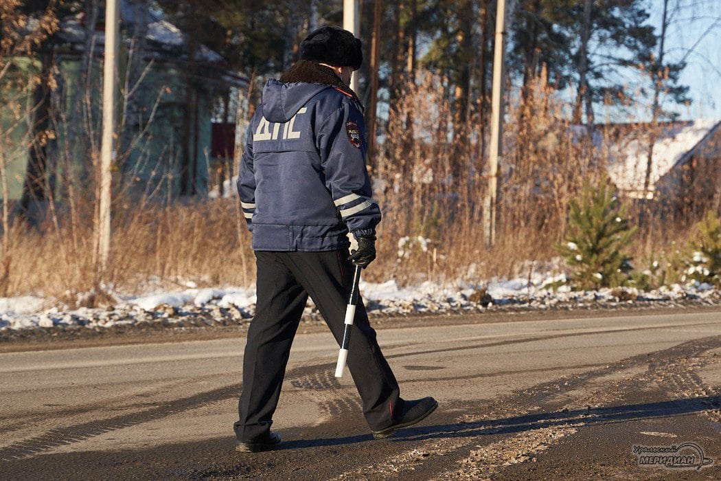
M514 464L534 459L586 425L676 415L680 411L713 415L721 397L715 389L703 387L694 372L677 369L674 360L686 356L697 360L693 367L699 369L704 364L700 360L704 353L720 347L721 337L708 337L539 384L490 402L482 414L461 415L456 425L416 428L408 438L413 441L412 449L334 479L487 479ZM653 358L651 362L649 356ZM609 381L609 376L618 373L624 374ZM660 379L673 378L676 385L689 387L685 394L690 398L681 405L676 400L624 405L624 392L639 381L650 379L649 374ZM589 392L588 387L593 388L599 381L601 384ZM455 469L449 467L451 460Z

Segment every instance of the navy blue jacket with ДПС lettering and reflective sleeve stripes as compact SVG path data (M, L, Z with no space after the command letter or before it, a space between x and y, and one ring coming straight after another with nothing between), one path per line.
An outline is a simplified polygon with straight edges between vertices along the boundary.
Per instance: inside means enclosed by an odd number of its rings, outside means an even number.
M361 105L327 84L267 81L237 187L254 250L337 250L348 231L375 234Z

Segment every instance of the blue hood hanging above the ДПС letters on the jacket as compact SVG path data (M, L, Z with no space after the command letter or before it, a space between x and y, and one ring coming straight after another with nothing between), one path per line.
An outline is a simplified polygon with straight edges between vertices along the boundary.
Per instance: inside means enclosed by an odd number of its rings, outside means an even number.
M284 84L280 80L270 79L263 88L260 103L263 117L268 122L286 123L298 113L306 103L319 92L331 88L324 84L293 82Z

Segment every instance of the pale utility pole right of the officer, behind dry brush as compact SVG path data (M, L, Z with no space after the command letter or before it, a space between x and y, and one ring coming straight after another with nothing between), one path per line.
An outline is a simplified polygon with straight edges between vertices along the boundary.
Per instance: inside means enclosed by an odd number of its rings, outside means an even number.
M491 96L491 138L488 153L488 185L483 202L483 237L487 247L495 244L498 215L498 174L503 149L503 79L505 78L505 0L496 9L495 46L493 51L493 90Z

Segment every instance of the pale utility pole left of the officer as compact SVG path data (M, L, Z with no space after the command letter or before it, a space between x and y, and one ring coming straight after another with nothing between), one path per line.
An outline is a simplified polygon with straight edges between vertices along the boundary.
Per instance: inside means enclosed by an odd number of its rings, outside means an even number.
M110 167L115 156L115 71L118 65L118 1L105 4L105 62L102 77L102 140L100 147L97 250L100 272L110 257Z

